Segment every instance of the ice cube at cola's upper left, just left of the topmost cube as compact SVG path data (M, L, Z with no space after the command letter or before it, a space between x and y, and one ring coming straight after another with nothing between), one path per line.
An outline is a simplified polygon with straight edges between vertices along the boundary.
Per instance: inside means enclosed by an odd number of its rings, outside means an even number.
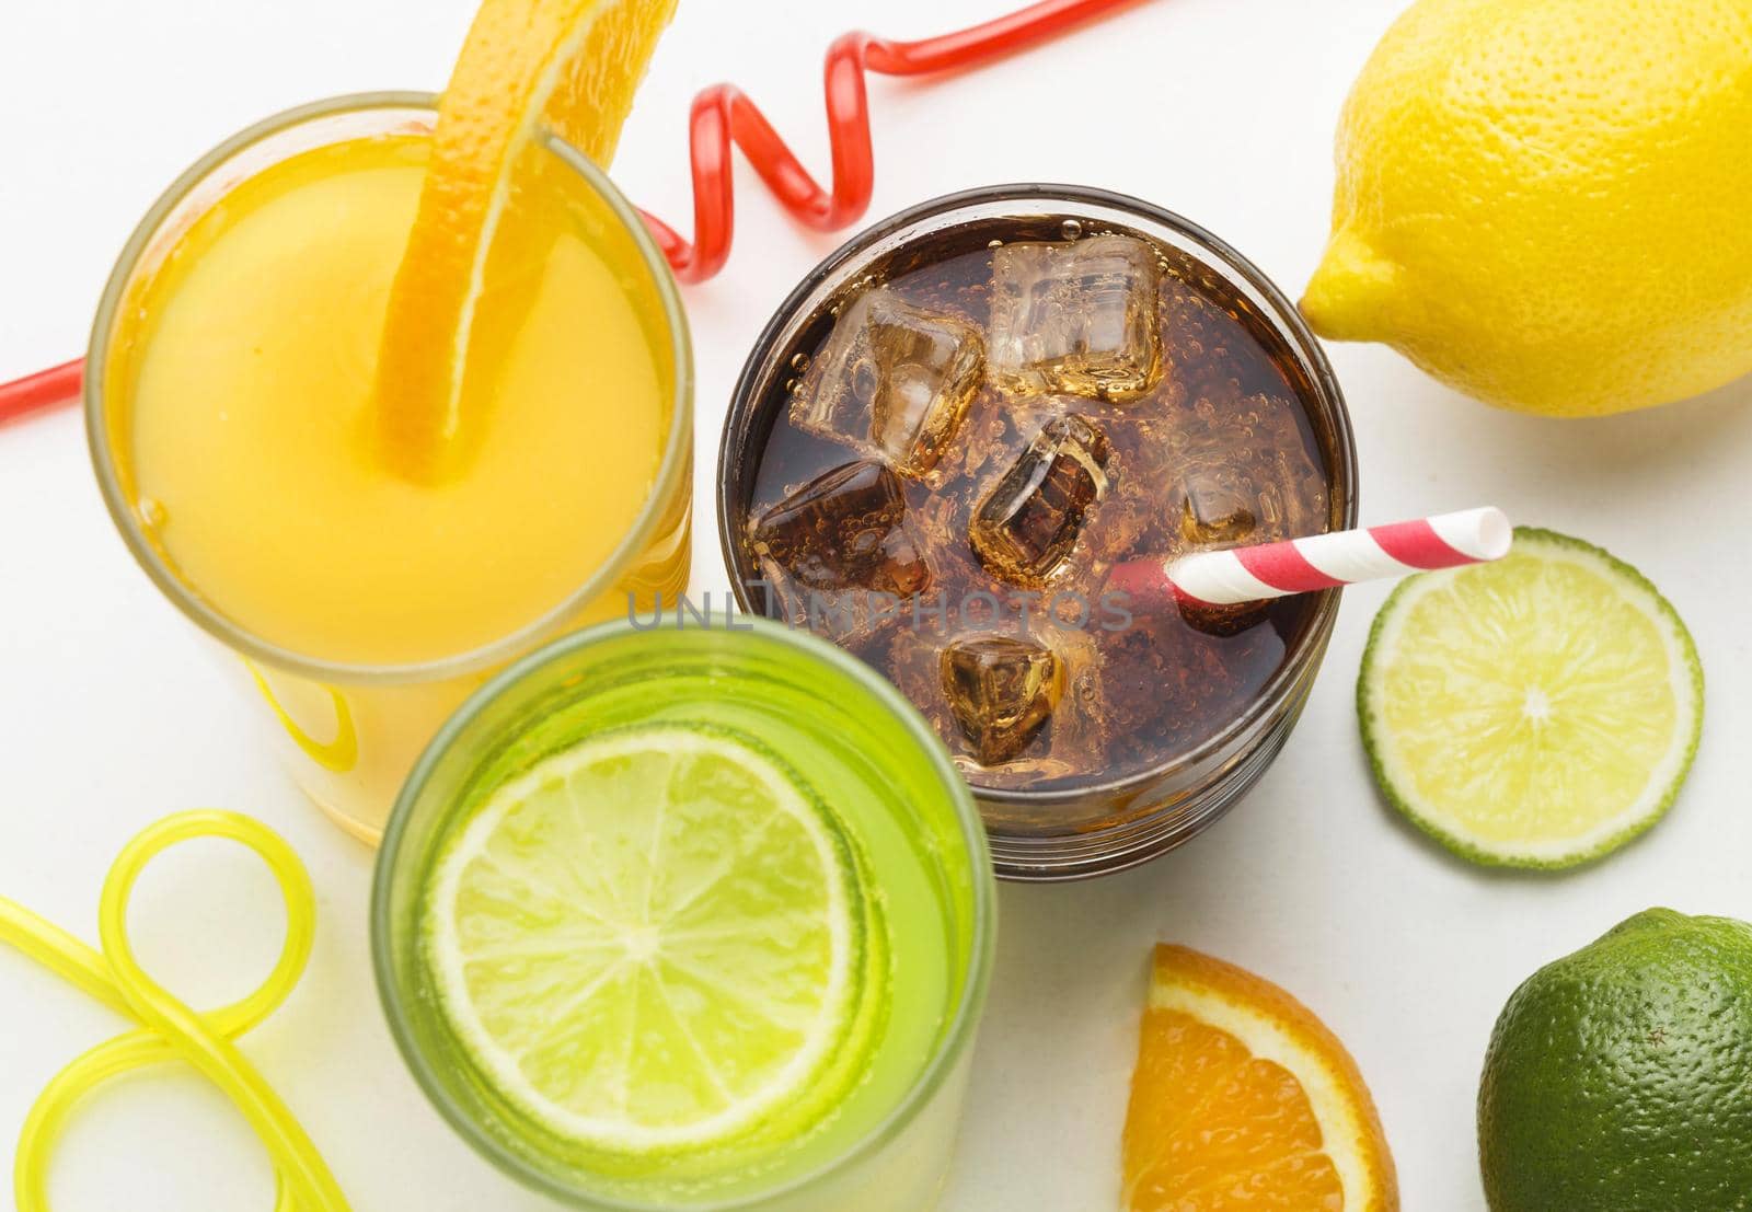
M985 342L953 315L876 287L848 307L811 359L792 424L923 476L943 459L985 380Z

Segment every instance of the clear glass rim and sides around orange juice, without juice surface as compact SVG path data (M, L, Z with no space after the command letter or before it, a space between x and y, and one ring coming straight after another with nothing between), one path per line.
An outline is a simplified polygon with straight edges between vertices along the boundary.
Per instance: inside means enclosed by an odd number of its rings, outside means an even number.
M301 152L371 135L429 133L434 98L424 93L370 93L317 102L270 117L231 137L189 168L145 214L110 273L86 356L86 433L110 517L147 576L184 615L219 643L226 667L270 722L284 760L312 800L354 835L375 842L401 781L438 725L496 669L564 631L622 617L629 595L650 604L673 599L690 562L694 375L687 321L669 266L638 212L589 159L559 140L548 149L589 193L608 224L636 249L661 299L669 338L675 394L668 445L655 485L611 555L545 617L473 652L403 666L326 660L289 652L228 618L187 583L142 525L142 503L130 499L112 433L117 410L105 366L121 333L131 284L175 249L189 226L252 175ZM580 324L590 317L580 315ZM594 406L580 387L580 406ZM596 401L599 403L599 401ZM361 518L361 525L368 525ZM443 610L443 587L433 587Z

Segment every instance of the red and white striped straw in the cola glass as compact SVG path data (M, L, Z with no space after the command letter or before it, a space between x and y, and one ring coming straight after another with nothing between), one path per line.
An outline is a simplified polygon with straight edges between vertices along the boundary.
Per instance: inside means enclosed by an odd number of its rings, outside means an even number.
M1107 588L1134 599L1170 594L1193 606L1235 606L1435 567L1484 564L1507 555L1512 539L1501 510L1465 510L1177 560L1128 560L1114 566Z

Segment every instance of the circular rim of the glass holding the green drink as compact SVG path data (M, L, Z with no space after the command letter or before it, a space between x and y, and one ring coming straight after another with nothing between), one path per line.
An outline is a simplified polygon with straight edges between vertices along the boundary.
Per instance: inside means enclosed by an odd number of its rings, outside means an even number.
M734 631L725 631L722 627L699 627L694 631L760 636L764 643L788 646L806 657L822 660L851 678L853 683L871 694L888 709L888 715L892 715L902 729L915 741L918 741L922 755L929 760L932 771L939 776L944 790L950 793L950 802L955 806L955 820L960 827L962 841L967 846L967 858L974 874L972 939L969 942L967 979L962 984L960 998L953 1014L946 1019L948 1026L932 1051L930 1060L920 1070L906 1095L862 1138L846 1149L846 1152L830 1158L815 1170L788 1180L781 1187L762 1191L753 1196L738 1196L729 1201L689 1205L687 1212L757 1212L762 1205L773 1200L806 1194L811 1187L830 1180L834 1175L851 1168L888 1145L925 1110L929 1102L943 1089L944 1082L955 1072L955 1067L967 1054L967 1049L972 1047L983 1018L986 995L990 991L992 970L997 962L997 876L992 867L992 853L986 842L985 823L979 816L979 807L974 802L967 781L955 769L955 764L950 760L950 751L944 748L936 729L930 727L925 716L920 715L918 708L915 708L888 680L843 648L830 645L818 636L811 636L809 632L799 632L755 615L743 617L741 622L750 624L750 627L746 631L741 625ZM378 1002L384 1009L384 1018L389 1021L389 1033L396 1040L396 1049L401 1053L401 1058L413 1074L413 1079L426 1093L426 1098L438 1109L438 1114L442 1114L445 1121L470 1145L473 1145L477 1152L480 1152L501 1172L512 1175L519 1182L564 1200L566 1203L592 1208L592 1212L675 1212L675 1205L610 1200L606 1196L580 1193L575 1187L568 1187L566 1184L554 1180L548 1173L534 1170L515 1152L505 1149L491 1131L485 1131L480 1123L468 1116L464 1109L450 1098L450 1093L442 1082L436 1081L431 1061L417 1047L412 1033L408 1032L408 1011L405 1005L408 1000L406 991L398 983L394 965L389 958L389 886L392 883L391 870L394 867L394 858L401 851L406 821L413 813L413 802L419 797L419 792L426 786L426 781L431 778L433 769L443 755L475 722L475 718L485 711L487 706L496 702L503 694L512 690L517 683L538 669L566 660L583 648L618 643L639 636L648 636L648 632L634 627L629 620L596 624L594 627L562 636L522 657L471 694L431 739L419 760L413 764L413 771L401 785L401 793L396 797L396 804L391 809L389 821L384 828L384 841L377 851L377 863L371 879L371 969L377 976ZM580 1203L582 1200L589 1200L589 1203Z

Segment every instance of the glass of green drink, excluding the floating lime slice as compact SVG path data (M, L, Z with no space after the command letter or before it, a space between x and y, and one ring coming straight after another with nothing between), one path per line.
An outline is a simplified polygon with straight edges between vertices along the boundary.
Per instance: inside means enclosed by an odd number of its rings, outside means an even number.
M918 711L837 648L766 620L639 627L648 625L604 624L526 657L470 699L415 765L371 900L391 1032L475 1149L573 1207L929 1212L948 1172L993 955L995 881L972 797ZM592 1166L496 1095L457 1044L422 960L424 890L468 806L585 736L650 722L734 727L790 764L862 842L888 920L888 1026L862 1084L773 1166L713 1175L710 1194L664 1191L661 1173Z

